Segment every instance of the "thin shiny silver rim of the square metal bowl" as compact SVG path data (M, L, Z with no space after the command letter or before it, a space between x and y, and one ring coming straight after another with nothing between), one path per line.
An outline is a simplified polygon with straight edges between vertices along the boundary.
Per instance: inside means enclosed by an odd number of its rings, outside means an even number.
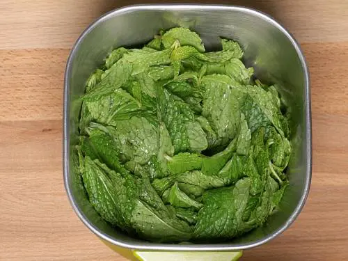
M275 232L270 235L263 237L262 239L255 240L255 242L250 243L238 243L238 244L189 244L189 245L180 245L180 244L157 244L152 242L126 242L124 240L115 239L109 235L106 235L104 232L99 230L93 223L90 223L86 216L81 212L77 202L72 196L72 191L69 185L69 177L70 177L70 103L69 103L69 95L70 95L70 75L72 74L72 61L74 56L77 54L77 51L81 45L81 42L84 41L86 35L93 31L95 27L104 22L105 20L115 16L120 15L121 13L129 13L133 11L142 11L142 10L233 10L239 11L242 13L248 13L250 15L255 15L264 19L265 21L271 23L276 26L290 42L292 46L296 50L297 55L301 61L301 66L304 74L304 98L306 100L306 104L304 104L304 113L305 113L305 124L306 124L306 155L308 161L306 162L306 184L303 187L302 195L297 204L294 212L289 216L287 221L278 228ZM79 219L98 237L106 240L111 244L116 246L120 246L123 248L132 248L134 250L151 250L151 251L237 251L243 250L247 248L253 248L255 246L260 246L266 242L269 242L271 239L274 239L278 235L280 235L283 231L285 231L289 226L294 222L301 209L306 203L306 199L308 198L308 193L310 189L310 181L312 177L312 126L311 126L311 109L310 109L310 76L308 66L306 64L306 59L301 51L301 47L299 43L296 42L294 37L282 26L279 22L277 22L273 17L253 8L247 8L244 6L232 6L232 5L211 5L211 4L141 4L141 5L132 5L125 6L121 8L116 8L111 10L108 13L100 16L95 19L74 43L70 55L68 57L67 65L65 68L65 76L64 76L64 93L63 93L63 179L65 190L68 194L68 198L74 212L79 216Z

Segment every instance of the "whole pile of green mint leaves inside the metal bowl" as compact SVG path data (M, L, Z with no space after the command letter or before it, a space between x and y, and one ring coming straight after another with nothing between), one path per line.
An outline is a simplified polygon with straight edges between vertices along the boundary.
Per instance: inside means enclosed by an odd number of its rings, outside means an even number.
M223 241L262 226L287 187L291 145L274 86L237 42L205 52L189 29L119 47L81 97L79 172L112 226L152 242Z

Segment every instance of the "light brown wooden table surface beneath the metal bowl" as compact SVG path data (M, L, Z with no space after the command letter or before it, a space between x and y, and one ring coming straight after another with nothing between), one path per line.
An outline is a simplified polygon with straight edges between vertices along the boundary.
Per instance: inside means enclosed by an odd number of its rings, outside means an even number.
M135 2L0 1L0 260L124 260L79 221L65 195L63 73L93 19ZM348 260L348 1L214 3L280 20L301 43L312 81L308 202L290 229L242 260Z

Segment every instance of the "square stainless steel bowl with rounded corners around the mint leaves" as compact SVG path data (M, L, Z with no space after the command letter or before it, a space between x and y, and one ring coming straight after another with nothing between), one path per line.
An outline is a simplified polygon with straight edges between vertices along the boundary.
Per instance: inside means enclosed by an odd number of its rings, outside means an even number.
M262 81L276 83L291 108L292 146L287 189L280 211L252 232L223 244L156 244L134 239L111 228L90 205L78 173L72 168L72 146L77 142L80 103L86 79L112 49L147 42L159 29L190 27L203 38L206 49L219 45L219 36L237 40L245 51L246 65ZM116 246L157 251L235 251L273 239L296 219L310 187L312 148L308 68L296 40L274 19L237 6L148 5L113 10L93 22L72 48L64 86L64 182L81 221L96 235Z

